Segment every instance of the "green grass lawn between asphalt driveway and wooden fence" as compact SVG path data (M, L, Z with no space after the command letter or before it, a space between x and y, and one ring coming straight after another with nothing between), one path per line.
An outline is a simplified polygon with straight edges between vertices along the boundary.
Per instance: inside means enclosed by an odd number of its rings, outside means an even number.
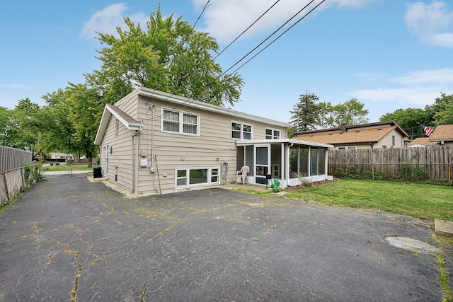
M287 197L335 207L372 209L421 219L453 221L453 187L338 180L319 187L288 192Z

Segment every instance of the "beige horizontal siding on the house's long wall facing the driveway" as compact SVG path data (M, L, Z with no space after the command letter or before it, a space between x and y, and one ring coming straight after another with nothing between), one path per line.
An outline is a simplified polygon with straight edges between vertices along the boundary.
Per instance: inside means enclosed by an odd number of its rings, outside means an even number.
M154 120L154 165L156 172L149 168L139 168L139 192L155 192L159 186L162 191L175 190L176 168L219 168L222 162L228 163L226 182L236 181L236 140L231 139L231 122L243 122L253 125L253 139L265 139L265 129L280 129L281 137L286 138L286 129L250 120L235 119L228 115L193 109L176 108L200 117L200 136L161 132L162 105L173 109L175 106L160 101L141 98L139 102L139 120L146 120L147 126L140 134L140 150L147 150L147 160L151 164L151 117L152 112L145 105L156 105ZM142 158L142 157L140 157ZM217 158L219 160L217 161ZM165 176L166 175L166 176ZM219 175L219 183L224 182Z

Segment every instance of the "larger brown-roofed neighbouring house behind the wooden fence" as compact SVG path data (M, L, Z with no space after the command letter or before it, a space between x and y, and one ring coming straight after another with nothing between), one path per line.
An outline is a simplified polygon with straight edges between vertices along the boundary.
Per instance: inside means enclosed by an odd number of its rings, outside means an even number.
M408 134L394 121L296 132L294 139L331 144L335 149L401 148Z

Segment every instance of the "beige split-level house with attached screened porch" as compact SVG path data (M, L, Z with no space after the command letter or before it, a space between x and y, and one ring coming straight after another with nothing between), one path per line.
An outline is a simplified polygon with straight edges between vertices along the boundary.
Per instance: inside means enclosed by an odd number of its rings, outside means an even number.
M95 144L102 175L132 194L239 182L280 186L327 178L328 144L287 139L289 124L138 88L106 105ZM304 180L304 181L306 181Z

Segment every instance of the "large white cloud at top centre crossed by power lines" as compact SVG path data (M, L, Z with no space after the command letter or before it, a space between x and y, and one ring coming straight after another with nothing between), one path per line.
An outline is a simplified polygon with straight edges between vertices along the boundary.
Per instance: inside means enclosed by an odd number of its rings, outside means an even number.
M340 7L360 7L366 6L376 0L331 0L326 1L321 6L316 8L316 11L327 8L333 4ZM301 3L302 2L302 3ZM294 13L297 13L309 0L286 0L275 5L263 18L258 21L251 29L249 29L243 37L254 37L268 30L275 30L291 18ZM308 8L299 14L289 24L299 20L304 16L309 9L319 4L321 0L315 0ZM206 28L202 31L210 33L219 42L230 42L236 36L243 32L249 25L256 21L270 6L275 3L275 0L212 0L207 5L203 17L205 19ZM206 4L205 0L193 0L193 4L199 10Z

